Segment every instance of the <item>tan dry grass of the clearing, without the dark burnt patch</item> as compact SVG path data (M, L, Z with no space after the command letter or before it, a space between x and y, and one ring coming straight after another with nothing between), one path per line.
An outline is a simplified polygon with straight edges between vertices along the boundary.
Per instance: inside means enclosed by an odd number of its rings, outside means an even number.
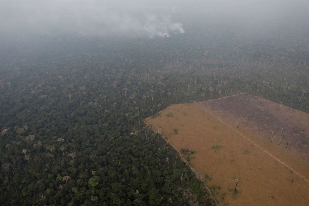
M263 132L245 130L240 124L245 123L242 122L242 117L235 115L235 112L221 111L220 108L224 107L212 109L214 105L210 103L217 104L215 101L173 105L159 117L147 119L147 123L154 128L162 128L162 135L178 150L187 148L196 151L191 154L194 158L191 158L190 165L205 177L205 183L219 203L309 205L309 182L306 180L306 172L302 170L307 168L308 172L309 165L297 167L296 164L289 164L305 160L294 150L282 148L278 144L276 150L265 147L269 145L269 139L258 135L264 135ZM226 102L231 104L231 101ZM306 118L308 114L302 115ZM263 128L260 127L260 131L261 129ZM292 154L290 161L284 159L290 155L287 153ZM295 171L291 173L289 167ZM235 182L231 180L236 178L239 182L237 192L234 193Z

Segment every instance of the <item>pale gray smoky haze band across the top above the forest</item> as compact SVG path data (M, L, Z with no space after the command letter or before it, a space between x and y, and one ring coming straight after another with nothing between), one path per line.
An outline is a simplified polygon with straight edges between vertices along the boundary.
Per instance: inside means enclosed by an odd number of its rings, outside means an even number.
M208 23L263 30L309 27L308 0L1 0L1 36L164 37Z

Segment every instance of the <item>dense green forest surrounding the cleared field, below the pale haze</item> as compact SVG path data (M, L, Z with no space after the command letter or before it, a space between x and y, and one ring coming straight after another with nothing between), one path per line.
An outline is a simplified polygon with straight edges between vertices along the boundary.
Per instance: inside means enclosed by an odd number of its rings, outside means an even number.
M0 204L214 204L143 119L239 92L308 113L308 38L266 36L1 41Z

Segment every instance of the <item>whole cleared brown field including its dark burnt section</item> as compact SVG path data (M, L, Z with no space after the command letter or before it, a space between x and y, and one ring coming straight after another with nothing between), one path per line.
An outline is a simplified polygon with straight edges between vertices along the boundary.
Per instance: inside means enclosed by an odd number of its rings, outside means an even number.
M190 165L219 204L309 205L309 114L240 94L172 105L146 123L196 151Z

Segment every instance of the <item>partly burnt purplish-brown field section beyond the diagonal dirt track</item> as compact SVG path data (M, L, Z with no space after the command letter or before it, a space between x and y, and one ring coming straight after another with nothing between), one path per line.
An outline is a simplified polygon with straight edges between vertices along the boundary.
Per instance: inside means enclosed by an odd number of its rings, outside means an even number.
M309 114L246 93L199 104L309 177Z

